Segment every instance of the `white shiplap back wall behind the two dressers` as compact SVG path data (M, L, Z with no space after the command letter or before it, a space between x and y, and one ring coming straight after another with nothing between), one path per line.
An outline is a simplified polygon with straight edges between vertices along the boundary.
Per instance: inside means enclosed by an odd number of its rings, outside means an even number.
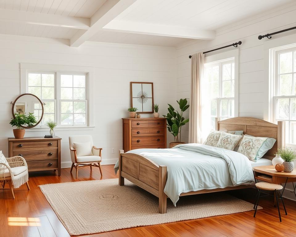
M7 137L13 137L10 102L20 94L20 63L88 66L94 68L95 128L56 131L62 138L62 167L71 165L68 136L79 134L91 134L94 144L103 148L102 164L115 164L122 148L121 118L128 116L130 106L130 81L154 83L154 102L161 115L167 103L175 104L175 48L92 42L72 48L67 44L67 40L0 35L0 150L8 156ZM25 136L44 134L48 132L29 129Z

